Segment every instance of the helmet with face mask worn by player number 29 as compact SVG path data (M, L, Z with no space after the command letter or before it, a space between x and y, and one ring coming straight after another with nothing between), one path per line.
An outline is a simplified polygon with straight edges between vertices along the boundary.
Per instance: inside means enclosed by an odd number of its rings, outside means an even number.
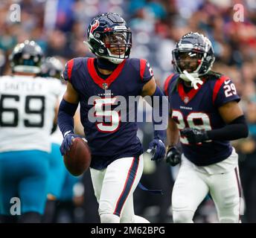
M187 71L195 77L207 74L215 60L210 40L193 32L182 36L172 54L175 71L179 74Z

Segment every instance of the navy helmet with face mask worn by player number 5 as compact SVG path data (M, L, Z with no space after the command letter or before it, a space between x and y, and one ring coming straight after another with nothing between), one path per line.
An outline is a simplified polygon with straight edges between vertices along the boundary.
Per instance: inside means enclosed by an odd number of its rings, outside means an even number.
M129 58L132 32L127 23L116 13L96 16L87 30L90 51L97 57L119 64Z

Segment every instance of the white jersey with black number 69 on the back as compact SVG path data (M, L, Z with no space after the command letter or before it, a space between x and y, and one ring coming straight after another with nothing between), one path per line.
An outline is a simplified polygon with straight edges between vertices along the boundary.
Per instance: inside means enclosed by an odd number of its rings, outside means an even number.
M51 151L60 85L42 77L0 77L0 152Z

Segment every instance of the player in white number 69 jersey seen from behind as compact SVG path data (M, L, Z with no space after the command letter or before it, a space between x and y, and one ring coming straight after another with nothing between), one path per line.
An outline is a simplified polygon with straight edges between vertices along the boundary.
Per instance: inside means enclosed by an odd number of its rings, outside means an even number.
M13 221L10 203L19 198L19 222L40 222L46 201L50 133L60 82L36 77L42 49L28 40L11 54L12 76L0 78L0 214ZM17 209L19 210L19 209Z

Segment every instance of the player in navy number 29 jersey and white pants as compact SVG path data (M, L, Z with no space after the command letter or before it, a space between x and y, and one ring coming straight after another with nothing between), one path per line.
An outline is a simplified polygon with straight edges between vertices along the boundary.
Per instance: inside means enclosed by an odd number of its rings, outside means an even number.
M234 83L211 71L214 60L210 40L188 33L173 50L175 74L164 85L170 103L166 160L172 166L181 161L173 187L173 222L193 222L208 193L220 222L240 222L238 156L229 141L247 137L248 127Z

